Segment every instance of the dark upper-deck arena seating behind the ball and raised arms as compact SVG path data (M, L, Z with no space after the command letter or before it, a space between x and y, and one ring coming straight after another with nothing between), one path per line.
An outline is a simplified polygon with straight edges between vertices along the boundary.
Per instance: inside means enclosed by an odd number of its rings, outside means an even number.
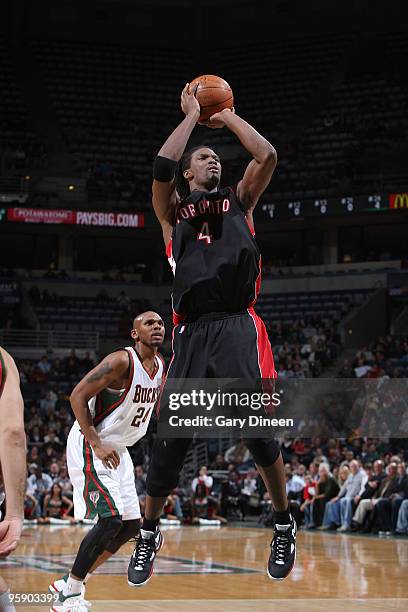
M384 35L381 49L377 42L364 43L361 53L349 56L357 46L346 34L234 46L220 54L219 72L233 85L237 112L272 142L289 142L279 149L268 195L285 199L405 188L408 37ZM146 205L154 152L181 117L178 96L190 71L184 54L71 41L31 45L77 171L88 178L90 201L129 207L139 199ZM2 39L0 50L5 92L0 138L11 148L26 148L34 137ZM332 87L327 102L325 87ZM304 114L311 100L313 112ZM301 129L292 136L294 123ZM234 141L226 130L205 132L205 139L214 145ZM226 162L228 180L241 164Z

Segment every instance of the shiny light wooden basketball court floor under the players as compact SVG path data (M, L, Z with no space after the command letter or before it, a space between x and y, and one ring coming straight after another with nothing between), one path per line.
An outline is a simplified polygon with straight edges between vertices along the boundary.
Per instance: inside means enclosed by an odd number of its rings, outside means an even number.
M71 566L86 527L24 530L17 554L0 561L12 593L46 593ZM298 535L299 553L283 582L265 573L270 530L256 527L163 527L155 574L143 588L127 585L129 544L92 577L92 612L365 612L408 610L408 539L332 533ZM24 610L48 610L49 605Z

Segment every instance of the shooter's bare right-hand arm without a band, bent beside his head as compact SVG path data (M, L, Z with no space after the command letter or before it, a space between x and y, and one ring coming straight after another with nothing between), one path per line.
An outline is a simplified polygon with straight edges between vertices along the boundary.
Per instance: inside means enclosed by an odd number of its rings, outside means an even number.
M247 211L252 212L267 188L277 164L277 153L270 142L247 121L228 109L210 118L208 127L223 127L234 132L253 159L237 185L237 196Z

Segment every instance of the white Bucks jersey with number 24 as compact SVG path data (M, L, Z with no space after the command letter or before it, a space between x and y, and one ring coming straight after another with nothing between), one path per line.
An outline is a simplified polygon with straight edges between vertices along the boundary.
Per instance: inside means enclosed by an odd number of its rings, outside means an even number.
M137 351L132 346L126 350L130 362L126 389L103 389L89 401L99 437L116 448L132 446L146 434L164 374L160 356L156 355L151 376L143 367Z

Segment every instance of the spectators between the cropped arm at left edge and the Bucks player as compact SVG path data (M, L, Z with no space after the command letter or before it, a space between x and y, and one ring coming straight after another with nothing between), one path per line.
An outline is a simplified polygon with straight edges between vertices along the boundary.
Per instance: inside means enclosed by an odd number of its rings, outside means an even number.
M26 519L73 520L72 485L66 465L66 442L74 416L69 393L94 366L89 352L79 358L44 354L39 360L17 360L25 397L27 432Z

